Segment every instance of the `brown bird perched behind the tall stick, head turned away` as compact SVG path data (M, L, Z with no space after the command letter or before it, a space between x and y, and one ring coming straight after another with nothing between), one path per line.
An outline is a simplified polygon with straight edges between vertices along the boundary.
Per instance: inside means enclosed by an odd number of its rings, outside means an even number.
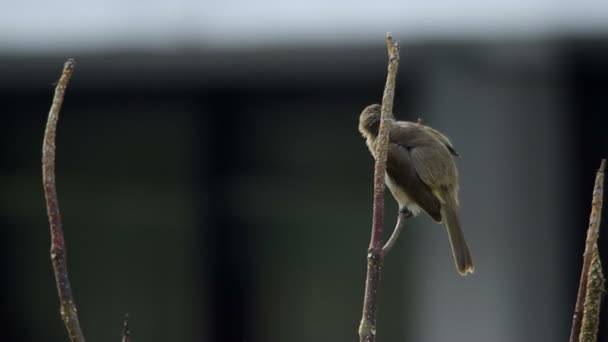
M373 104L361 112L359 131L375 158L381 106ZM419 123L389 120L386 185L407 216L421 210L438 223L445 222L456 269L473 273L471 252L460 229L458 156L443 134Z

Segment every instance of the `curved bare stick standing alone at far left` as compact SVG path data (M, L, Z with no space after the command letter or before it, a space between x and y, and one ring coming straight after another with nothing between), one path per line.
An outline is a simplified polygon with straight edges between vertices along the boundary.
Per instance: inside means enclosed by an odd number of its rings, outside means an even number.
M74 303L74 296L72 295L72 288L68 277L65 241L55 185L55 133L57 131L57 120L59 119L65 89L68 86L70 78L72 78L74 64L74 60L72 59L65 62L63 72L55 87L55 96L53 97L53 104L49 111L44 132L44 142L42 144L42 184L44 186L46 208L51 227L51 262L53 263L57 292L59 293L61 319L65 323L70 340L72 342L84 342L85 339L80 328L76 304Z

